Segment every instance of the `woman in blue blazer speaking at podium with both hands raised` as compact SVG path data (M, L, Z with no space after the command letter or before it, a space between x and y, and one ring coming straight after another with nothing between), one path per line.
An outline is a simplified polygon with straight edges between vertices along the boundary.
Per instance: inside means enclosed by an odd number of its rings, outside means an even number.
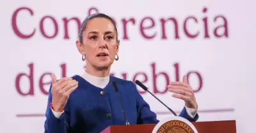
M58 81L52 75L45 133L99 133L109 125L125 125L118 100L120 95L131 125L159 122L132 81L109 76L111 64L119 59L120 41L117 36L116 25L107 15L97 13L83 21L76 46L82 60L86 62L86 71L81 76ZM118 86L118 92L112 85L113 81ZM171 84L168 88L175 93L173 97L183 99L186 103L179 116L195 122L198 119L197 104L186 76L184 83Z

